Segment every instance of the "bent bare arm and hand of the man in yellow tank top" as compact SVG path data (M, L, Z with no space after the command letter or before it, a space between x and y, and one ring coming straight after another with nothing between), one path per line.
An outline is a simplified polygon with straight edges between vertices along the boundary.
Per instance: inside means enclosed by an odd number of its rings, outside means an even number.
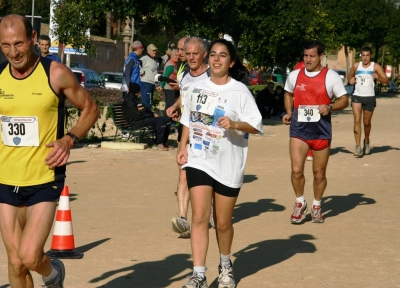
M67 66L55 61L51 62L50 66L50 85L54 92L60 95L64 94L73 105L81 109L81 116L69 132L82 138L99 117L96 103L89 93L78 84L72 71ZM46 147L52 148L45 159L49 168L65 165L73 145L73 140L68 135L46 144Z

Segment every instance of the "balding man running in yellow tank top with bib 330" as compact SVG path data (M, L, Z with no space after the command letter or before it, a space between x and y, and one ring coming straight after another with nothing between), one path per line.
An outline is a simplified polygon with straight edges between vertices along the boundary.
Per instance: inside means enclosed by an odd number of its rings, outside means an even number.
M35 54L36 31L19 15L0 22L0 231L11 287L64 287L65 269L43 248L65 179L70 149L95 123L99 110L63 64ZM65 99L82 110L65 133ZM0 273L5 273L1 271Z

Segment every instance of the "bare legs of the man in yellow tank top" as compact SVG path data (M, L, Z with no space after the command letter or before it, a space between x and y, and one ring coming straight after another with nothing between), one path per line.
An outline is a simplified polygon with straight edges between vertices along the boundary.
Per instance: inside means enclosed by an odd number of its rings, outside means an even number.
M51 273L50 259L43 247L54 220L56 202L42 202L30 207L0 203L0 229L8 255L11 287L33 287L29 272Z

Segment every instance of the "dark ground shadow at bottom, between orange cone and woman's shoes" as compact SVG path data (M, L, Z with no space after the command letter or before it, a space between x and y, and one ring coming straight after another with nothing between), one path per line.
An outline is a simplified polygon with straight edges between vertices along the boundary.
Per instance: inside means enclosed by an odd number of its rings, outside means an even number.
M167 287L176 281L182 281L188 275L175 277L186 269L192 269L193 264L189 254L175 254L164 260L137 263L129 267L111 270L90 280L96 283L119 274L107 284L97 287ZM138 260L131 260L138 261Z

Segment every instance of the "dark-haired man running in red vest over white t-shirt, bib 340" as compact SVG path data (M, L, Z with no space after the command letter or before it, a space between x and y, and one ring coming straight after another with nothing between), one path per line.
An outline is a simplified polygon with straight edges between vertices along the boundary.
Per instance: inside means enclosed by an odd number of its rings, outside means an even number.
M347 92L339 75L321 64L324 46L318 41L304 45L305 68L292 71L285 84L284 124L290 124L290 158L292 185L296 194L292 223L301 223L307 212L304 199L304 164L307 151L312 149L314 174L314 200L311 207L312 222L322 223L321 200L324 194L326 166L332 139L331 111L348 106ZM332 102L332 97L338 100Z

